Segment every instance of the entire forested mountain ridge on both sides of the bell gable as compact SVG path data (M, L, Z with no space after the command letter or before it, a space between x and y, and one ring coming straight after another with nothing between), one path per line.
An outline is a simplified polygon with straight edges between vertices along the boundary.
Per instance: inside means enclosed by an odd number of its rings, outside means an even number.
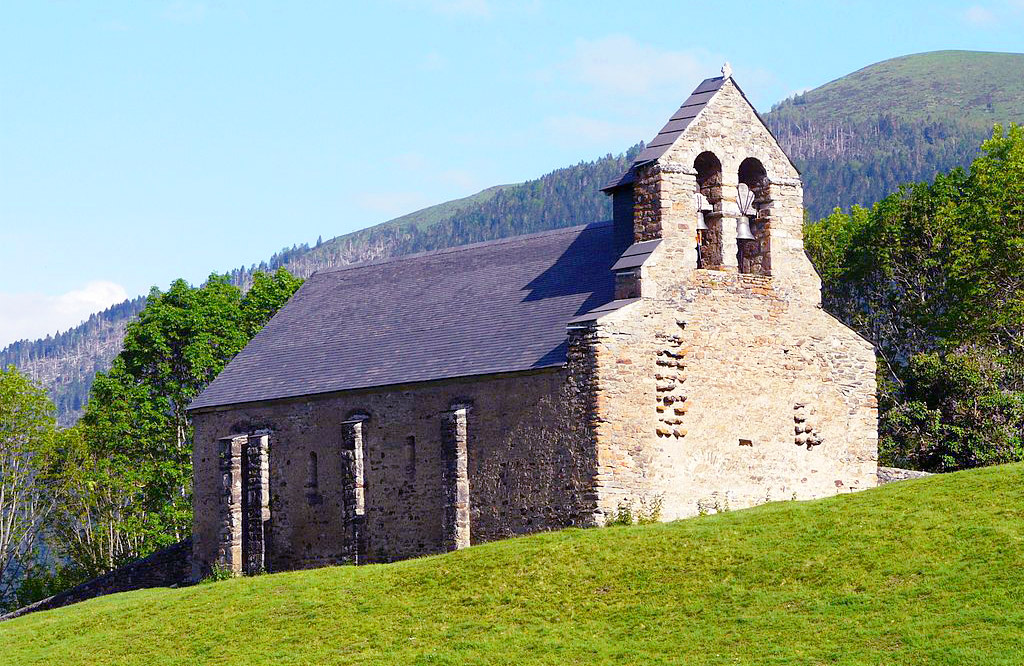
M894 58L791 97L764 118L803 172L805 205L817 219L836 206L869 205L901 183L966 166L994 123L1024 122L1024 54ZM257 270L284 266L305 278L330 266L607 219L610 202L599 188L638 150L285 248L230 270L230 279L248 287ZM125 301L55 337L16 342L0 350L0 367L12 363L50 386L61 422L72 422L93 374L110 366L127 320L143 304L142 297Z

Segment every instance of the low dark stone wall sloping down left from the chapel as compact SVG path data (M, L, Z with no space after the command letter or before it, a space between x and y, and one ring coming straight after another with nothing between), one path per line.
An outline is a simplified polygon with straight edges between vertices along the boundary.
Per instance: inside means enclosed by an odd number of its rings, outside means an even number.
M70 590L0 616L0 622L36 611L49 611L78 603L104 594L186 584L191 576L191 539L185 539L173 546L158 550L148 557L136 559Z

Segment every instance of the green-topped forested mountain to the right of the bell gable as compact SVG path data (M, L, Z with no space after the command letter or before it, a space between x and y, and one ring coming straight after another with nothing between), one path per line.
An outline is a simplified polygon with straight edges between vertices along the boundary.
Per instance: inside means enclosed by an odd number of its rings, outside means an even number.
M1024 122L1024 54L885 60L776 105L765 121L800 168L804 205L819 219L967 166L993 124Z

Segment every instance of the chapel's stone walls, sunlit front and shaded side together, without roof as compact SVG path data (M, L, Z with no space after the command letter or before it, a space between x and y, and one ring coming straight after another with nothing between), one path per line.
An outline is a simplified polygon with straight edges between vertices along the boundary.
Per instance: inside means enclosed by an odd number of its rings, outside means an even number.
M706 153L714 233L697 268ZM744 246L748 159L757 241ZM731 81L632 194L633 241L662 243L616 284L638 301L570 331L565 368L195 414L194 576L216 561L282 571L441 552L591 526L622 502L660 498L671 519L873 486L873 350L821 309L799 174Z

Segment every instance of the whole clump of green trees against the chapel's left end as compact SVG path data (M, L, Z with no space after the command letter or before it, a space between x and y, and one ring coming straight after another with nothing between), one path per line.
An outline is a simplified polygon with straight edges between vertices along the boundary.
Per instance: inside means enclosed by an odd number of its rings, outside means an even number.
M151 292L49 468L63 505L53 534L76 567L95 575L188 534L188 404L301 282L282 268L257 274L245 295L216 274Z

